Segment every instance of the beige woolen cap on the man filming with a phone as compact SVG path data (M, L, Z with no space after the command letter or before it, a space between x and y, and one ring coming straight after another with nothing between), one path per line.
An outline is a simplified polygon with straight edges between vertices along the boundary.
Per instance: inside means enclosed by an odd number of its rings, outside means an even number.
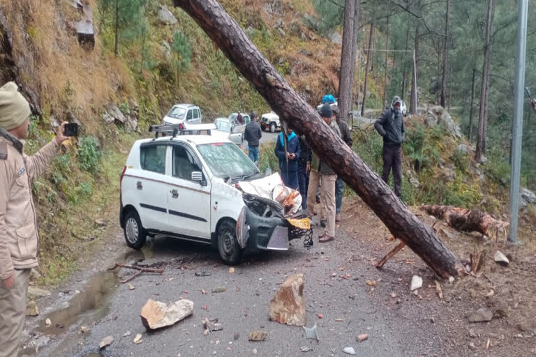
M0 127L5 130L19 127L31 114L28 101L17 89L14 82L0 87Z

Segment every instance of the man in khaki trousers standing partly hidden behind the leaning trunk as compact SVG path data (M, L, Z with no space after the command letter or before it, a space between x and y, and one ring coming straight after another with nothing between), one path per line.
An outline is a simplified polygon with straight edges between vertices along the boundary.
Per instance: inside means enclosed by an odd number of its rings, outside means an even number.
M320 116L329 128L338 137L341 137L336 121L333 120L332 107L329 104L322 105ZM318 237L320 243L326 243L335 239L335 181L337 175L325 162L322 162L316 153L311 160L311 175L309 176L309 188L307 192L307 215L313 217L316 192L322 178L322 190L320 190L320 206L322 215L326 218L324 234Z

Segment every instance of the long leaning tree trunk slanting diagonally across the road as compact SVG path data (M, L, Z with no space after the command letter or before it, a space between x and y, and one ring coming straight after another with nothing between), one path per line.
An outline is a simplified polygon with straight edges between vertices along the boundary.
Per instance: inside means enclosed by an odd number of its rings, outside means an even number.
M318 113L279 75L216 0L173 0L218 44L220 50L290 128L303 133L322 160L355 190L389 231L442 278L466 273L459 259L400 201L356 153L336 137Z

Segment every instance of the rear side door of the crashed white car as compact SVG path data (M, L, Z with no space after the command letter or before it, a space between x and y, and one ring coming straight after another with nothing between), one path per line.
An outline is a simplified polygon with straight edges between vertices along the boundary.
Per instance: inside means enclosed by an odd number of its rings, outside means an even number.
M141 172L134 178L139 197L139 213L145 229L168 229L168 144L150 142L140 146Z

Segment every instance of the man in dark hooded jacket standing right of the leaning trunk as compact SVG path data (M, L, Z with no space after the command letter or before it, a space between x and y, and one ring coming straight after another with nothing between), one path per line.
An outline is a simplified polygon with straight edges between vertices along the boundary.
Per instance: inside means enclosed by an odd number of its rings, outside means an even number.
M399 198L402 185L402 143L405 139L404 118L400 109L401 103L400 97L394 96L391 107L385 109L374 123L374 128L383 137L382 180L388 183L392 168L394 193Z

